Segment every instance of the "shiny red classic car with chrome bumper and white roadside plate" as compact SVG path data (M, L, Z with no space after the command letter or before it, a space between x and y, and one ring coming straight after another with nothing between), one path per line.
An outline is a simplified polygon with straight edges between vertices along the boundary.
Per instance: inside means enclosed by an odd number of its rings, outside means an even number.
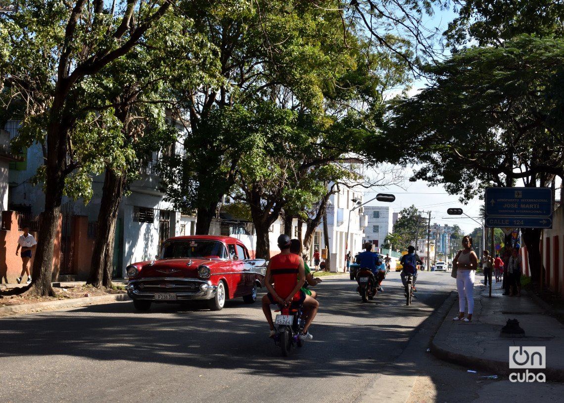
M163 244L161 259L127 266L127 295L139 311L151 303L182 303L208 300L212 311L226 299L257 299L257 287L265 280L266 262L249 257L236 238L195 235L170 238Z

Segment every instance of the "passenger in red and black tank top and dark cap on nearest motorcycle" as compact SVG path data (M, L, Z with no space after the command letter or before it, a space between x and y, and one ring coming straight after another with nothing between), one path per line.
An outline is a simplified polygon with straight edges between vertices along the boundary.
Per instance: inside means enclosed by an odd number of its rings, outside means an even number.
M276 336L276 329L272 321L270 304L288 306L292 301L302 304L306 298L306 294L301 290L306 278L303 259L290 253L290 245L290 237L281 234L278 237L280 253L272 256L266 267L265 286L268 294L262 297L262 312L266 316L268 325L270 325L268 336L271 338ZM307 333L307 327L309 327L309 324L306 324L304 328L305 333ZM311 336L309 339L312 338Z

